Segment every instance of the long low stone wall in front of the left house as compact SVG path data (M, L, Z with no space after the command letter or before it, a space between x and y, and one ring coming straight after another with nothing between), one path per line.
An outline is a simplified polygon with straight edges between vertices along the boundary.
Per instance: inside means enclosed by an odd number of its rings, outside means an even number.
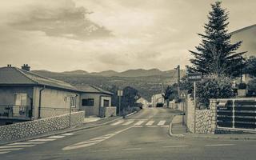
M73 112L71 117L70 114L64 114L30 122L20 122L8 126L0 126L0 142L29 138L34 135L44 134L54 130L62 130L68 128L70 124L71 126L77 126L82 124L84 115L84 111L79 111Z

